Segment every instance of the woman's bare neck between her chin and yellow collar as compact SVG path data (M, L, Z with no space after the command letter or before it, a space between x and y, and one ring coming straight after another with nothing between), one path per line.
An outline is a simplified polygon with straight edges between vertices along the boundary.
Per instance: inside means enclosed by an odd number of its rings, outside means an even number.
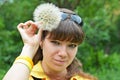
M45 74L51 80L65 80L67 69L63 71L54 71L53 69L48 68L43 62L42 62L42 67L43 67Z

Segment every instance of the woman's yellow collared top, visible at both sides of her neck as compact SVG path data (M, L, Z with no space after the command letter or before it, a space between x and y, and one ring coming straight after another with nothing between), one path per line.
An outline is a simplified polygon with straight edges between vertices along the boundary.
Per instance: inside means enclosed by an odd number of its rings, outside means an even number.
M32 69L31 74L30 74L30 78L29 80L34 80L33 77L35 78L39 78L42 80L50 80L49 77L44 73L42 66L41 66L41 62L38 62ZM81 76L73 76L70 80L89 80L89 79L85 79Z

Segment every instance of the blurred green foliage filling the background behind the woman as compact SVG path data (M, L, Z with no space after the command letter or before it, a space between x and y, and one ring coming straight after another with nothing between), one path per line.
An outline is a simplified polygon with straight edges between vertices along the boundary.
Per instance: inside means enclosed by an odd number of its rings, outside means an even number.
M32 20L41 3L74 10L84 20L85 41L77 57L100 80L120 80L119 0L0 0L0 79L22 49L17 24Z

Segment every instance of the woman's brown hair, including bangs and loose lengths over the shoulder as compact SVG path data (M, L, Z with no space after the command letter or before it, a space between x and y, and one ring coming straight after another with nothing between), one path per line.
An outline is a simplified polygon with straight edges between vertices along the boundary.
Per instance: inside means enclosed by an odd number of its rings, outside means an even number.
M61 12L65 12L68 14L75 14L71 10L68 9L61 9ZM49 38L50 39L55 39L55 40L61 40L61 41L70 41L74 43L81 44L84 40L84 32L78 24L76 24L74 21L70 19L66 19L64 21L61 21L59 26L52 30L51 32L49 31L43 31L42 33L42 40L45 39L47 34L50 34ZM39 60L43 59L42 55L42 49L39 47L36 55L33 58L34 64L36 64ZM80 75L82 77L88 78L90 80L95 80L94 77L87 75L82 71L82 64L80 61L75 58L73 62L67 67L68 74L66 75L66 78L69 80L73 75Z

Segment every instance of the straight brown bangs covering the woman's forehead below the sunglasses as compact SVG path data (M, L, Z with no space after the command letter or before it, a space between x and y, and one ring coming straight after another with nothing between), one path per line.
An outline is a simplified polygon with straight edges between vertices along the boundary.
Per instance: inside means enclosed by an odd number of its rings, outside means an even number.
M51 40L66 41L71 43L81 43L84 37L82 30L72 21L65 20L59 26L48 32L47 38Z

